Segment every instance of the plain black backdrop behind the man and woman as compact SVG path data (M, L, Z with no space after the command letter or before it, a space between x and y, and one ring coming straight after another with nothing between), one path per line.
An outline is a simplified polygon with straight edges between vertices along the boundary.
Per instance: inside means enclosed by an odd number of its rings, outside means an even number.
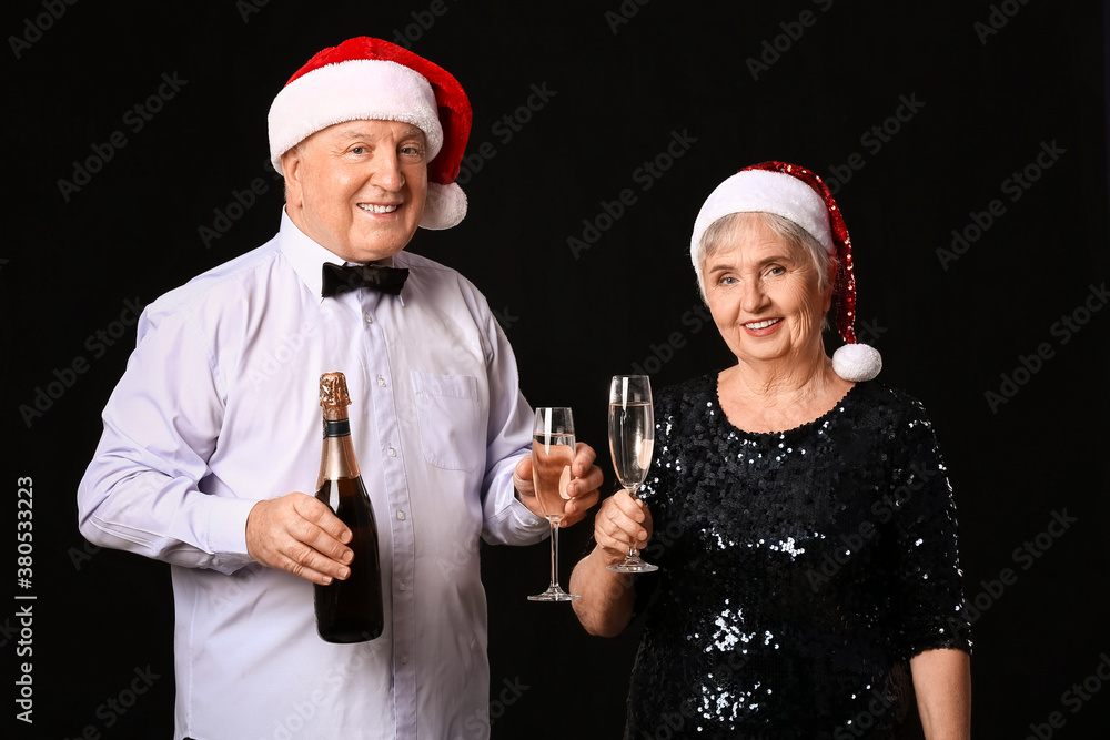
M709 191L768 159L833 183L855 244L857 328L882 352L880 379L926 404L949 465L968 597L982 607L976 734L1110 728L1110 686L1089 679L1110 665L1110 311L1089 311L1104 308L1093 288L1108 263L1099 3L20 0L0 30L4 551L12 596L37 597L33 726L14 721L11 681L0 693L18 737L171 732L168 567L85 549L77 484L134 343L128 302L149 303L276 231L270 102L315 51L360 34L400 34L470 94L470 215L410 249L486 293L529 402L572 405L579 439L603 452L609 375L638 364L658 388L729 363L714 327L687 314L698 305L689 231ZM127 112L157 95L163 74L184 82L135 130ZM533 85L548 91L532 98L538 110L526 108ZM890 119L902 100L916 112ZM511 139L506 115L517 116ZM885 123L886 141L869 135ZM59 181L115 131L125 145L63 192ZM686 151L660 158L676 134ZM494 156L473 155L483 142ZM1050 166L1033 164L1053 144ZM854 153L864 166L841 182ZM637 174L649 161L666 171ZM1030 164L1028 190L1005 184ZM265 192L228 213L260 178ZM625 189L636 201L598 219ZM996 200L1000 215L969 229ZM238 217L205 243L216 210ZM583 239L584 220L601 235L575 252L568 239ZM953 230L969 244L942 260ZM1078 331L1064 331L1064 316ZM992 405L986 394L1003 386L1012 398ZM12 572L21 477L33 480L31 589ZM1042 534L1063 513L1076 521ZM588 535L588 523L564 534L564 584ZM1038 557L1020 554L1027 541ZM589 638L565 605L525 601L545 582L546 547L483 551L493 736L619 737L636 631ZM999 592L990 581L1003 568L1015 578ZM23 604L0 609L9 666L27 660L16 655ZM137 669L159 678L130 702ZM1064 692L1084 679L1100 690L1077 707ZM110 699L130 706L120 713ZM1062 727L1048 726L1052 712Z

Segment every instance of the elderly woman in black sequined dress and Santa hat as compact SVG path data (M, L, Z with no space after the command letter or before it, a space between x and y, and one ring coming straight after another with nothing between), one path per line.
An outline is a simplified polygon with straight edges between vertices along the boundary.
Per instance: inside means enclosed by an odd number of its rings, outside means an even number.
M706 201L690 255L736 364L657 395L643 498L605 501L571 582L594 635L646 612L625 737L967 738L951 491L921 405L868 382L828 189L748 168ZM829 358L834 297L848 345ZM659 571L608 571L630 545Z

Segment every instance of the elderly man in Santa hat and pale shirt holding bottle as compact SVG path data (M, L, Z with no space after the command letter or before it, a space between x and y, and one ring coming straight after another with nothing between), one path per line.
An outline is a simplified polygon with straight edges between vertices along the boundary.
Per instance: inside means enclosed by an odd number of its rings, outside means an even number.
M470 104L376 39L325 49L274 100L278 235L151 304L78 494L97 544L172 565L175 740L488 736L478 540L549 527L508 342L456 272L403 252L465 214ZM343 267L345 266L345 271ZM316 636L312 584L350 530L314 497L317 378L346 374L379 521L385 629ZM569 521L597 500L579 445ZM293 493L289 493L293 491Z

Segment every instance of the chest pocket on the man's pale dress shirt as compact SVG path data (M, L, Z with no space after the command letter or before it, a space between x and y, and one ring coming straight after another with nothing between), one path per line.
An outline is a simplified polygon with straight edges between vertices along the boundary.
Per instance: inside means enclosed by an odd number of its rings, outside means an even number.
M477 378L412 372L424 459L448 470L485 468L485 414Z

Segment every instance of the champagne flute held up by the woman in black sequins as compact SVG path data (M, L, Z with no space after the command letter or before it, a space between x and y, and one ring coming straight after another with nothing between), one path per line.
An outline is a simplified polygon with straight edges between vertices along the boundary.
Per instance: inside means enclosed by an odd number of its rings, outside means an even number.
M617 480L633 498L647 477L655 450L655 413L652 383L646 375L614 375L609 383L609 452ZM652 572L658 566L644 562L633 545L615 572Z

